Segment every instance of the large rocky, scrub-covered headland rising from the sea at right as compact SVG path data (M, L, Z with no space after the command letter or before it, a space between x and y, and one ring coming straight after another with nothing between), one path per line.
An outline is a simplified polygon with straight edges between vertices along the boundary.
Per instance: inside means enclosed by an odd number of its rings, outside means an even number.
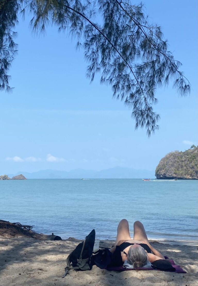
M198 179L198 146L184 152L174 151L162 158L156 167L157 179Z

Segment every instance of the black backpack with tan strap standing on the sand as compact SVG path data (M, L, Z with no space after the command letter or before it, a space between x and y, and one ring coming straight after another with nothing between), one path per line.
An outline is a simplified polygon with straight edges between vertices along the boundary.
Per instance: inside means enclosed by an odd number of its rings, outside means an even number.
M93 246L95 242L95 229L85 237L85 240L70 253L67 257L64 278L70 269L75 270L91 270L93 264L91 263L91 256L93 253ZM71 266L70 266L71 265Z

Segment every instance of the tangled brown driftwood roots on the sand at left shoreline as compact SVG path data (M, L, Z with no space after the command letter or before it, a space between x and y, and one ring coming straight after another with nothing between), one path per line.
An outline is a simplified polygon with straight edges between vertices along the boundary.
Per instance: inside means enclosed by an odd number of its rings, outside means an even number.
M37 237L39 234L32 230L31 225L21 225L21 223L10 223L9 221L0 220L0 234L8 235L26 235L30 237Z

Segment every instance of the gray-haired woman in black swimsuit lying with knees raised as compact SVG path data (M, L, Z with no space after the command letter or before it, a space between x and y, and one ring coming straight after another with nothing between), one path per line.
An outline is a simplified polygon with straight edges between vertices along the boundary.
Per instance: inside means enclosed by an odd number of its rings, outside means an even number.
M117 238L115 246L110 249L113 253L112 262L114 266L123 265L124 261L134 266L142 267L150 261L165 259L148 242L144 226L140 221L134 223L134 237L131 239L129 224L126 219L122 219L117 227Z

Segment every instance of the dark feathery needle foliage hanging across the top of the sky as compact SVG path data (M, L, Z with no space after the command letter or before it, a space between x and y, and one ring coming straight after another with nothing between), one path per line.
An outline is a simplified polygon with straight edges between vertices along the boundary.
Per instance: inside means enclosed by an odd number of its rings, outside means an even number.
M181 96L190 92L188 80L179 71L181 63L168 51L160 26L149 23L142 3L132 5L130 0L3 2L7 3L7 10L0 6L0 13L1 10L10 13L10 19L3 18L7 26L0 34L1 43L7 43L4 49L3 44L0 46L1 56L7 60L5 65L1 62L1 89L8 87L7 69L15 51L8 27L17 22L17 12L23 2L22 12L33 15L30 24L35 32L42 33L49 24L54 24L59 31L67 31L77 38L77 47L84 49L88 62L87 77L93 81L99 72L101 83L112 86L113 97L132 109L135 128L146 128L148 136L158 129L159 114L153 111L157 103L156 88L173 80L173 87ZM5 17L4 14L0 17Z

